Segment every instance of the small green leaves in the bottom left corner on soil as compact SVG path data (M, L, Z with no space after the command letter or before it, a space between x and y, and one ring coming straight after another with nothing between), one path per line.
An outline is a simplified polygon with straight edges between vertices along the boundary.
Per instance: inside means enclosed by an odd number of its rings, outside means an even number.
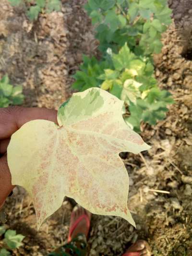
M0 226L0 235L4 234L3 242L8 246L10 250L14 250L16 248L19 248L21 245L23 245L22 241L24 239L24 236L21 234L16 234L15 230L7 230ZM5 248L2 248L0 250L0 256L9 256L11 253L7 251Z

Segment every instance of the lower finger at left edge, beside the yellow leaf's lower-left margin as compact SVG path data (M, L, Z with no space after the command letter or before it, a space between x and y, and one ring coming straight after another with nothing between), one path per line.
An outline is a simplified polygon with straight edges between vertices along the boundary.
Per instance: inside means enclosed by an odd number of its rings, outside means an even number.
M4 204L7 196L12 192L11 173L7 164L7 156L0 158L0 208Z

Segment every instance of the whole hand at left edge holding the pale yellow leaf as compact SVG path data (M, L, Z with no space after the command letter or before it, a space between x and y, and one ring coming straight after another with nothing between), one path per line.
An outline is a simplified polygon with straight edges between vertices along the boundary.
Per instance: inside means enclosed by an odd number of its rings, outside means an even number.
M57 123L57 111L44 108L0 108L0 208L2 208L7 196L10 195L14 188L7 164L7 146L11 136L24 123L36 119Z

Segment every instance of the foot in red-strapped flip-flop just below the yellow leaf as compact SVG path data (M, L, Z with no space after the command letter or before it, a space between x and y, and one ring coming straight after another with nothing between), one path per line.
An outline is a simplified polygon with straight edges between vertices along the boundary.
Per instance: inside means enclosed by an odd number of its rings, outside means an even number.
M79 219L82 215L86 214L89 219L91 219L91 213L87 210L85 210L83 207L80 206L75 206L73 211L72 211L72 216L71 216L71 223L70 227L72 227L77 219ZM76 228L73 230L71 234L71 238L75 238L77 234L85 234L87 237L89 232L89 228L87 227L87 222L86 219L82 219L76 226Z

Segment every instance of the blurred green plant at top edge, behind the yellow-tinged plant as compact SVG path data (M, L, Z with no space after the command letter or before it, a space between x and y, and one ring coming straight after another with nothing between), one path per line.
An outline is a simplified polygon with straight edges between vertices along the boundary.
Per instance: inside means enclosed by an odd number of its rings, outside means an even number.
M159 53L161 33L171 23L167 0L88 0L85 10L96 25L99 49L117 51L128 42L132 51Z

